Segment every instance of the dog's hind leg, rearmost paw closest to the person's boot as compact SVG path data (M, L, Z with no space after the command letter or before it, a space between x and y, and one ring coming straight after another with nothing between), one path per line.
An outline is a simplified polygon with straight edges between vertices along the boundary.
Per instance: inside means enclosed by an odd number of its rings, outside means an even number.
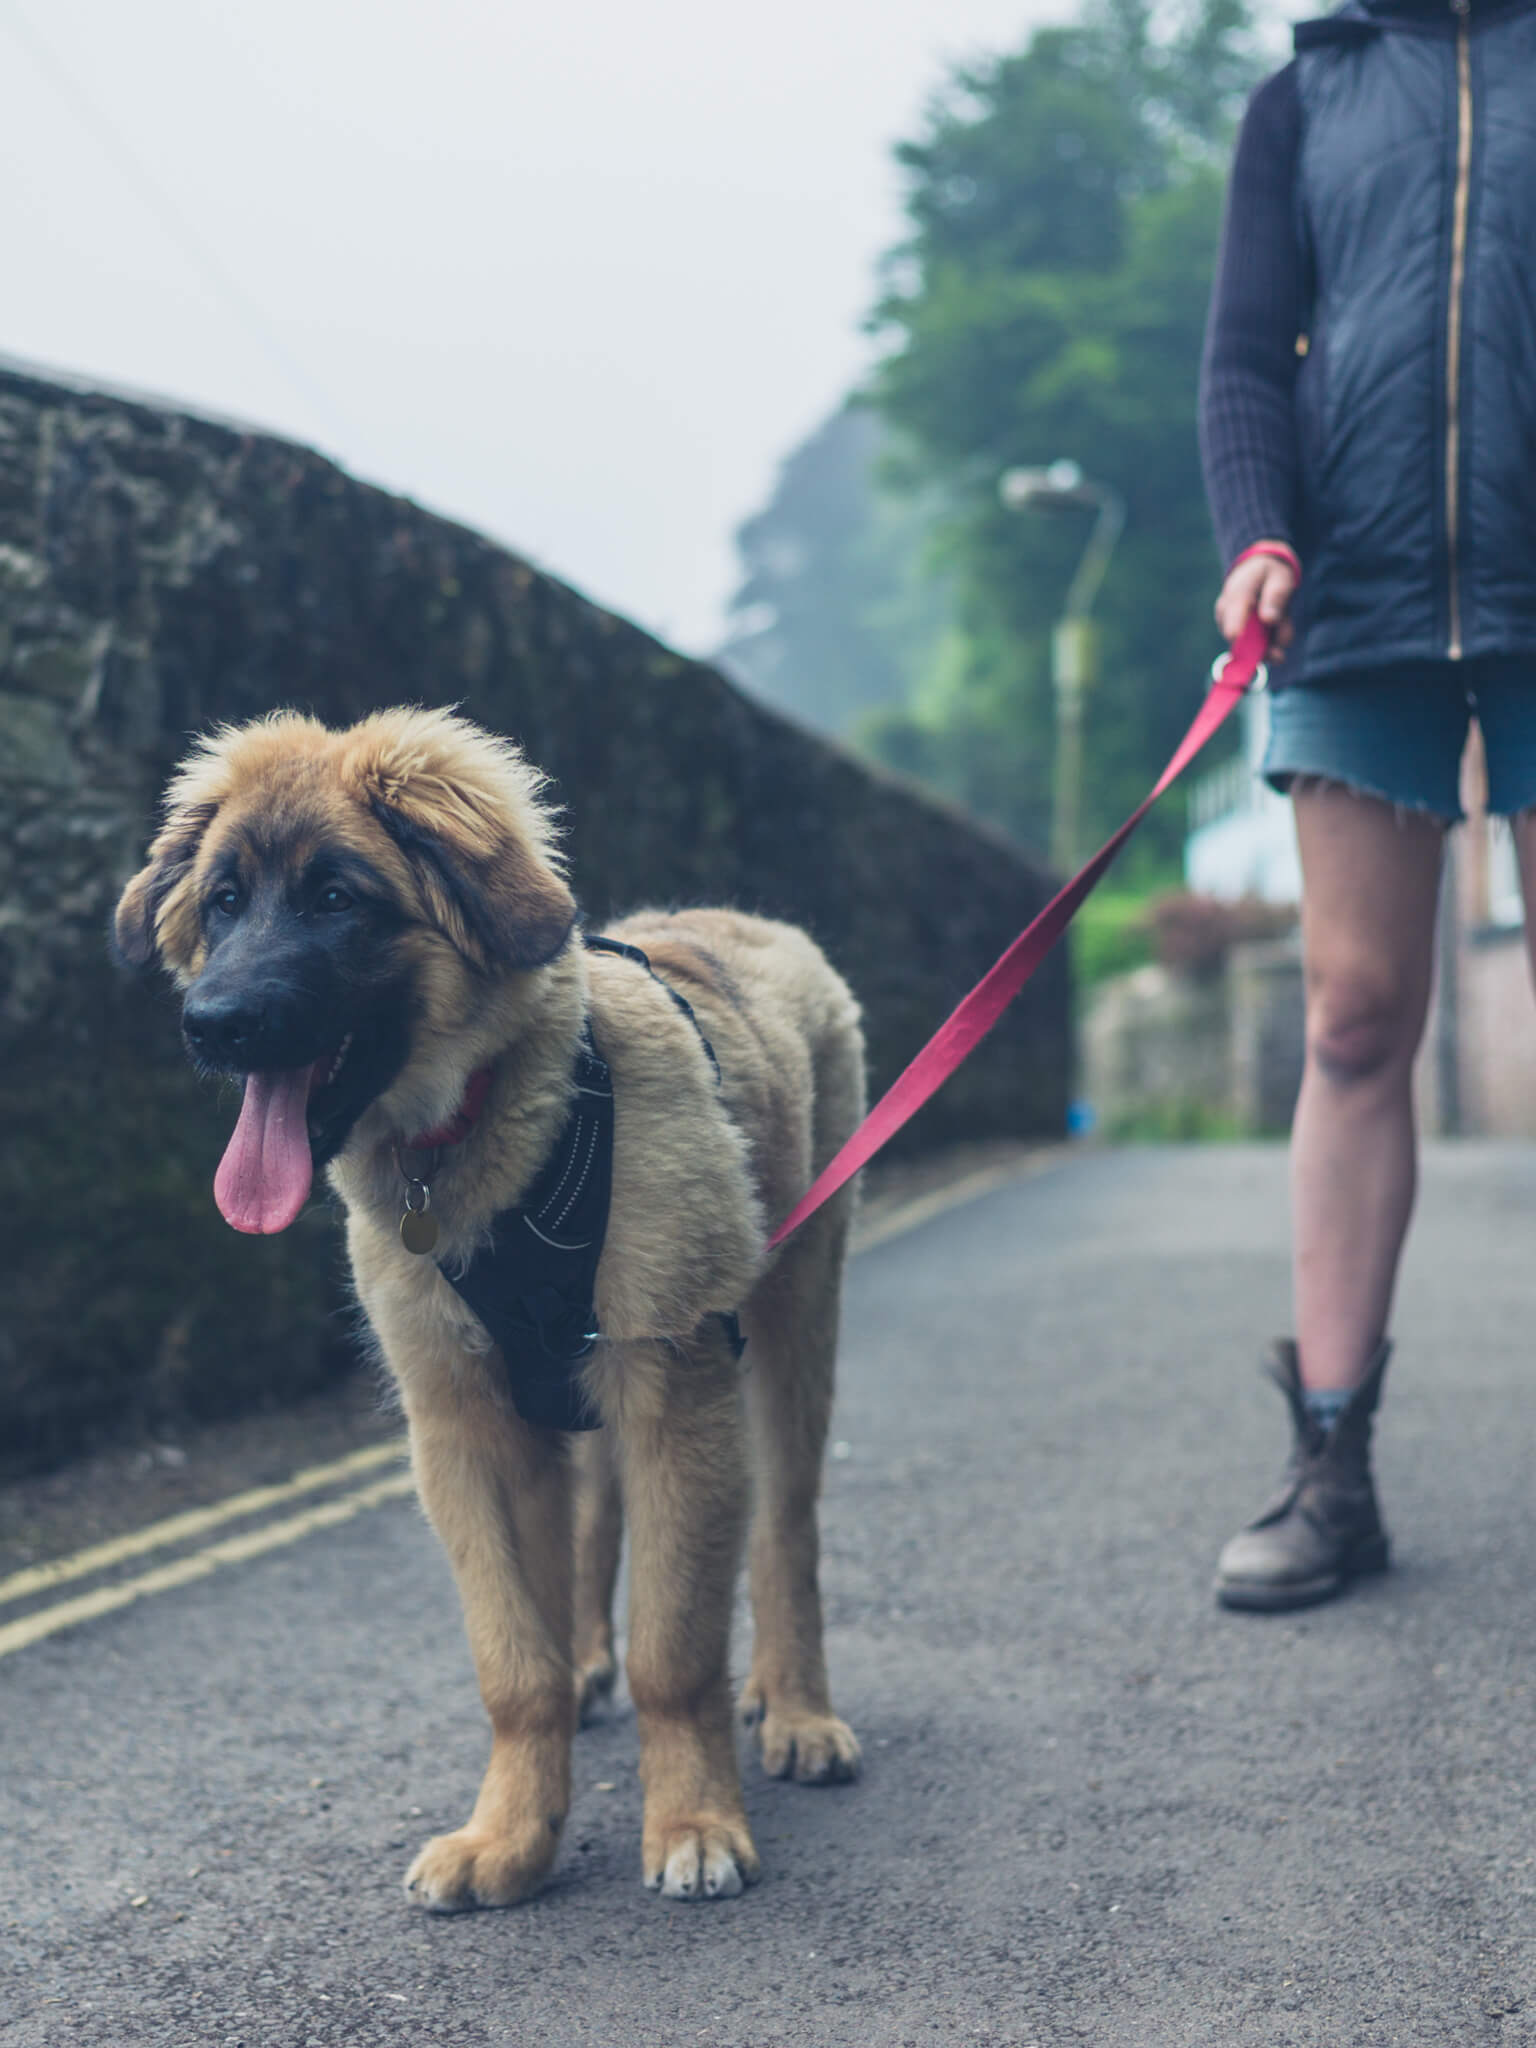
M817 1495L831 1419L844 1247L852 1194L784 1247L743 1313L756 1464L752 1671L741 1718L764 1769L801 1784L858 1774L858 1739L831 1712L821 1647Z

